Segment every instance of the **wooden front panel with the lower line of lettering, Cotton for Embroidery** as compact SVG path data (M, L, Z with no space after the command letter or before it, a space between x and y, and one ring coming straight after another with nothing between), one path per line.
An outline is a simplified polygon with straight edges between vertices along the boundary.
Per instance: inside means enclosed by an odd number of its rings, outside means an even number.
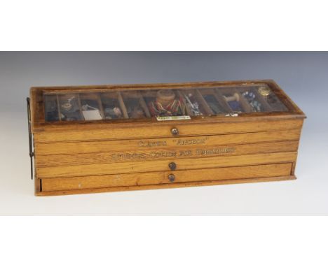
M210 142L208 142L210 143ZM243 145L195 145L180 147L158 147L146 150L111 151L81 154L48 154L36 157L37 167L78 166L88 164L111 164L120 162L154 161L161 159L191 159L196 157L217 157L241 154L274 152L296 152L298 140L271 143L250 143Z

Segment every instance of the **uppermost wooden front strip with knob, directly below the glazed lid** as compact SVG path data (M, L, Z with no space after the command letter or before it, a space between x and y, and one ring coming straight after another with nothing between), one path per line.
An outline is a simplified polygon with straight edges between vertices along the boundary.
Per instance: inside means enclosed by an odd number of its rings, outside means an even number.
M213 124L188 124L177 122L170 125L148 125L141 127L107 127L76 129L67 131L34 132L35 143L69 142L80 140L124 140L138 138L169 138L172 136L204 136L224 133L254 133L259 131L286 131L301 129L303 120L222 122ZM176 129L177 131L173 131Z

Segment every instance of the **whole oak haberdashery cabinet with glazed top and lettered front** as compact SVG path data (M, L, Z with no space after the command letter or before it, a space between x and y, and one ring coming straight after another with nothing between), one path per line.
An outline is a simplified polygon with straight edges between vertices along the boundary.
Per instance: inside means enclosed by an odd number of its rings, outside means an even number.
M306 117L273 80L32 87L28 104L37 196L292 180Z

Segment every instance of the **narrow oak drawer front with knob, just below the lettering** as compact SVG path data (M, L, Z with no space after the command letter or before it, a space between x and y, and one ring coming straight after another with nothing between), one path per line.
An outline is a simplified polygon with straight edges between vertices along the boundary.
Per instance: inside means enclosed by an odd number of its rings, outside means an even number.
M202 157L175 160L176 170L247 166L255 164L275 164L296 161L296 152L231 155L222 157ZM36 167L38 178L60 178L72 176L107 175L118 173L144 173L170 171L172 159L153 161L119 162L109 164L86 164L77 166Z

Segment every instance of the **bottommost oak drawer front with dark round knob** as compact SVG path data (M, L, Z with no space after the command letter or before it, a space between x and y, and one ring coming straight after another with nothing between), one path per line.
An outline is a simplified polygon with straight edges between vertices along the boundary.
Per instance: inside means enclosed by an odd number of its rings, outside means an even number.
M41 179L42 192L99 189L107 187L138 187L142 185L176 184L217 180L270 178L291 175L292 163L205 168L186 171L125 173L71 178ZM124 188L122 189L122 191Z

